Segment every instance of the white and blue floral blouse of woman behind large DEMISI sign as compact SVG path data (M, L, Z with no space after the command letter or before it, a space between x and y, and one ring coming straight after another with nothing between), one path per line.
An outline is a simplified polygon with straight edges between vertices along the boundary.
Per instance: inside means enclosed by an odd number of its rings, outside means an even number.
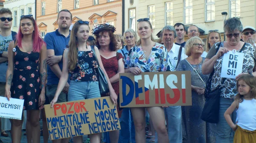
M154 44L148 59L140 45L131 48L125 62L125 68L129 67L139 67L142 72L175 71L166 48L159 43Z

